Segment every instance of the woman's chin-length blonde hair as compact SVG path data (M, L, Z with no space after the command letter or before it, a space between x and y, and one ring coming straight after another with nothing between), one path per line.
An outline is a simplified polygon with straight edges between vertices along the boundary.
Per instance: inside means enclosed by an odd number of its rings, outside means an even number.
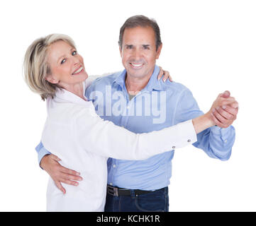
M51 69L47 61L48 48L50 44L64 41L75 48L74 41L71 37L61 34L52 34L46 37L40 37L28 47L24 62L23 73L26 83L30 90L40 94L42 100L48 97L54 97L57 84L48 82L45 78L51 74Z

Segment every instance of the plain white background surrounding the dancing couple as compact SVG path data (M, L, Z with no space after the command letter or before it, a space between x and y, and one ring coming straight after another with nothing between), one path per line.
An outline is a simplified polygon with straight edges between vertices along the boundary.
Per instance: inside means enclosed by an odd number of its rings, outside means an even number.
M192 91L206 112L218 93L240 103L230 160L193 146L177 150L169 185L169 211L255 211L255 1L1 1L0 210L45 211L48 175L35 145L45 102L22 76L28 45L50 33L77 44L89 75L123 69L118 34L136 14L155 18L162 33L157 64Z

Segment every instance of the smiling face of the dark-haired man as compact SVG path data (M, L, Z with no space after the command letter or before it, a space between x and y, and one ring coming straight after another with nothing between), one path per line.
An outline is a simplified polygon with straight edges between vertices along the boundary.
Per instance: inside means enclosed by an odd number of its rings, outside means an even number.
M155 32L150 27L126 28L123 45L119 49L127 76L144 78L152 75L162 44L156 51Z

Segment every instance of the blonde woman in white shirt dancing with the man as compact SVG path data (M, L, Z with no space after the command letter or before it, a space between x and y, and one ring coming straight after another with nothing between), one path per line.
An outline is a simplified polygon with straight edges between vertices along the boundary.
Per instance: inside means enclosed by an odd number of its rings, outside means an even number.
M24 71L29 88L47 100L43 145L60 157L62 165L86 178L79 186L66 185L65 195L50 178L49 211L103 211L108 157L143 160L194 143L196 133L214 125L211 110L196 119L151 133L135 134L104 121L84 97L88 85L84 83L88 78L84 62L66 35L35 40L26 52ZM231 97L219 96L213 107L232 101Z

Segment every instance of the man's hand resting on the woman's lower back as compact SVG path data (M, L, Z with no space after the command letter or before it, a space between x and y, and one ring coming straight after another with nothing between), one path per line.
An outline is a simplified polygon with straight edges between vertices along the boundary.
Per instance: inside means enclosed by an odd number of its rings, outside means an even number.
M56 155L45 155L40 162L40 167L48 172L50 177L52 177L53 181L55 182L57 188L60 189L63 194L65 194L66 190L62 186L61 182L77 186L78 182L76 181L82 181L82 177L79 177L79 172L62 167L59 161L60 158Z

